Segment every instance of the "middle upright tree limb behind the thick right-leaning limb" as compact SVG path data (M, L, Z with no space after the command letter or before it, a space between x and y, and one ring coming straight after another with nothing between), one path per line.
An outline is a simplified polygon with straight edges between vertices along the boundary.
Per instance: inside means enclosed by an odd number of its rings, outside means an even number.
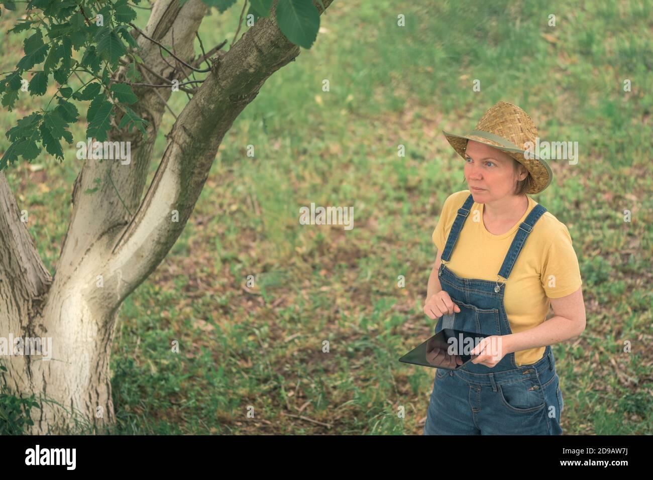
M153 5L145 31L149 37L170 44L170 31L174 25L175 48L178 56L192 59L195 52L193 48L195 32L206 10L206 5L200 0L189 0L182 7L179 6L178 0L159 0ZM145 37L138 36L137 41L140 47L139 55L148 71L157 78L163 78L161 83L170 82L165 78L165 74L170 72L169 67L159 59L159 46ZM126 81L126 72L126 67L121 67L113 80ZM118 112L116 122L108 132L107 139L131 142L131 163L123 165L121 161L112 160L100 163L97 159L84 161L84 167L74 182L71 222L57 264L57 278L61 278L62 281L65 281L80 266L82 257L93 259L94 264L90 271L103 274L105 285L116 281L110 278L110 272L106 271L104 263L116 241L116 236L121 234L131 219L128 211L136 212L138 209L146 186L151 152L159 125L167 100L173 94L171 88L155 88L147 84L135 85L133 90L138 97L138 102L132 104L131 108L138 116L149 122L146 127L148 136L143 138L136 130L130 133L127 129L119 129L117 125L122 114ZM178 94L183 95L183 93ZM86 138L75 140L86 141ZM107 169L111 180L107 177ZM95 178L101 178L101 184L95 184L93 182ZM83 195L86 189L93 187L98 187L93 195ZM116 190L119 191L119 195ZM96 250L97 255L80 255L80 252L86 253L89 249ZM113 297L113 295L106 296ZM99 298L98 301L101 299Z

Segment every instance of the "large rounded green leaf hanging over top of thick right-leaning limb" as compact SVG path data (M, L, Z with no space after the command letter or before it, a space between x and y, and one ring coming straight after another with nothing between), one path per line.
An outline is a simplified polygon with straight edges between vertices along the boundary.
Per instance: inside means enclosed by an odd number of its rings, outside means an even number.
M308 0L279 0L277 24L285 37L295 45L311 48L320 28L320 14Z

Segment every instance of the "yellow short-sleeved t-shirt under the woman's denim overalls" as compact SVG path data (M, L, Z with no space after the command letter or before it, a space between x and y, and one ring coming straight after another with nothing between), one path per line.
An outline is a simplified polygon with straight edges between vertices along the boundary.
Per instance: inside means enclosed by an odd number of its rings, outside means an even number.
M432 236L438 251L444 249L458 208L469 195L469 190L463 190L445 200ZM474 202L449 263L446 263L447 268L463 278L496 281L519 225L535 205L537 202L528 197L524 216L509 231L494 235L485 229L484 205ZM503 278L500 281L504 281ZM574 293L581 283L578 258L567 227L550 212L545 212L535 223L505 280L503 306L512 332L523 332L543 323L549 313L549 298ZM532 364L543 357L544 351L545 347L517 351L515 362L517 365Z

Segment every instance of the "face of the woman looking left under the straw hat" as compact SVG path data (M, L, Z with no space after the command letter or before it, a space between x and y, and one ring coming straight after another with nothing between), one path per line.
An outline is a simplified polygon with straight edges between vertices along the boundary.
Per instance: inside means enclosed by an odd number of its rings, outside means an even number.
M501 150L468 140L465 153L465 180L477 203L514 195L517 180L526 178L526 169L520 165L522 172L517 176L513 157Z

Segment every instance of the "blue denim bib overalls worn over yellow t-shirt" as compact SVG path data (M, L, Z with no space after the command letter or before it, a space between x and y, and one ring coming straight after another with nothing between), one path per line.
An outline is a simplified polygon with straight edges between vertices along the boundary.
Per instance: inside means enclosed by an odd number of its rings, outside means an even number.
M490 335L511 334L503 306L505 282L461 278L445 266L467 219L470 195L454 220L442 252L438 278L442 289L460 308L453 325L438 320L436 332L456 328ZM498 276L507 280L535 223L547 211L541 205L520 224ZM519 285L511 288L518 289ZM468 362L458 370L438 368L433 385L425 435L560 435L563 402L550 345L534 364L517 366L515 354L505 355L490 368Z

